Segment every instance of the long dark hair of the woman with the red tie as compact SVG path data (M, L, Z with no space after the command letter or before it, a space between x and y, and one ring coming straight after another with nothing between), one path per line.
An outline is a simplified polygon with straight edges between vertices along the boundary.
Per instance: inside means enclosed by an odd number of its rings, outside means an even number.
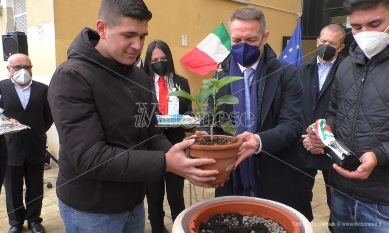
M167 58L167 77L166 77L166 83L167 87L172 90L174 88L173 84L173 75L178 75L176 73L176 70L174 69L174 63L173 63L173 56L172 52L170 51L170 48L168 44L166 44L163 41L157 40L157 41L152 41L148 46L147 46L147 51L146 51L146 56L144 58L144 66L143 70L144 72L147 73L147 75L153 80L154 79L154 70L152 69L151 66L151 53L155 48L159 48L164 52L166 58Z

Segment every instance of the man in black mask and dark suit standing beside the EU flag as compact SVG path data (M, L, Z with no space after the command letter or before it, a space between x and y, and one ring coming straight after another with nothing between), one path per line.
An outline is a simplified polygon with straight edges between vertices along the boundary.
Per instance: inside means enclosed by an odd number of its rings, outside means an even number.
M317 39L318 55L298 66L303 88L304 119L302 139L299 142L301 154L304 158L304 172L307 188L312 200L312 188L318 170L323 173L324 182L328 184L328 169L330 158L323 149L314 149L310 146L306 128L317 119L325 118L332 91L332 81L343 57L339 55L344 48L344 29L340 25L330 24L322 29ZM331 210L330 187L326 185L327 204ZM330 230L332 231L332 227Z

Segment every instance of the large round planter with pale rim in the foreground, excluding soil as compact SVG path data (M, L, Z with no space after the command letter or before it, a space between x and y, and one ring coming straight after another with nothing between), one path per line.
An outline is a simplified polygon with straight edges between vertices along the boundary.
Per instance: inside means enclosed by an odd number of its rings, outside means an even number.
M173 223L173 233L199 232L201 222L216 213L235 212L270 218L281 224L288 233L312 233L309 221L297 210L266 199L228 196L197 203L182 211Z

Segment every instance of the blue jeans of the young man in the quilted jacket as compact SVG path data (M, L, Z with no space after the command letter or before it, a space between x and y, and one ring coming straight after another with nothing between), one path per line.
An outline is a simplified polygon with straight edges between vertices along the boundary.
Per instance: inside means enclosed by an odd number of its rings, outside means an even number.
M351 199L331 189L332 224L335 232L387 233L389 206Z

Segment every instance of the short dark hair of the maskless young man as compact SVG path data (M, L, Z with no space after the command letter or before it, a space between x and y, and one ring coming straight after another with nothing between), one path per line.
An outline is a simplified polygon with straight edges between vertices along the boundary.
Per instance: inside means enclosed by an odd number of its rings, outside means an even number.
M108 27L118 25L121 17L130 17L140 21L149 21L152 17L142 0L102 0L99 19L105 21Z

